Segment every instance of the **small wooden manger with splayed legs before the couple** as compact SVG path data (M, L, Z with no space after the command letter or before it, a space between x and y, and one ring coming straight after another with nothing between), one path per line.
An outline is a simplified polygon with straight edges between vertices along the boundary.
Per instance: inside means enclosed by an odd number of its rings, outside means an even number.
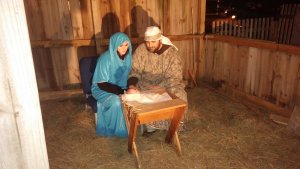
M153 92L161 93L162 91ZM165 137L165 142L170 144L173 141L177 154L179 156L181 155L181 146L177 129L179 127L179 122L183 117L187 103L170 93L169 95L172 97L172 100L151 104L125 102L122 99L123 113L128 131L128 152L133 152L138 168L141 168L141 162L139 160L135 138L137 127L141 124L166 119L170 120L170 126Z

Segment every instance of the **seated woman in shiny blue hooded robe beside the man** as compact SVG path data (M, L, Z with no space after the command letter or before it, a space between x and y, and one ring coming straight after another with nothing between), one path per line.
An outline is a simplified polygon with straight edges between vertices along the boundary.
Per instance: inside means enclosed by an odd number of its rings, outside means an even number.
M97 100L97 135L128 136L119 95L127 89L131 60L128 36L121 32L113 34L109 49L97 61L92 82L92 95Z

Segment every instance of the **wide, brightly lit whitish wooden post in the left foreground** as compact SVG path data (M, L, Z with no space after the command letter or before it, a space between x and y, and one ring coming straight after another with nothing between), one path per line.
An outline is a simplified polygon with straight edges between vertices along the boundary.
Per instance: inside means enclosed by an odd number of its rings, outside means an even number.
M0 11L0 166L48 169L23 0L2 0Z

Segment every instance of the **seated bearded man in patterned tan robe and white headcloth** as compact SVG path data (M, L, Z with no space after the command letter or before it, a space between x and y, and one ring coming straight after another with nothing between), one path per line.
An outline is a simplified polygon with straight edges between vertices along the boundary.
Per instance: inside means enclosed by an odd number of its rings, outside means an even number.
M162 35L156 26L145 32L145 43L140 44L132 57L132 72L128 80L129 88L139 90L164 88L187 102L184 90L182 61L178 49ZM186 114L186 113L185 113ZM147 125L149 132L155 129L168 129L168 121L157 121ZM181 128L183 129L183 120Z

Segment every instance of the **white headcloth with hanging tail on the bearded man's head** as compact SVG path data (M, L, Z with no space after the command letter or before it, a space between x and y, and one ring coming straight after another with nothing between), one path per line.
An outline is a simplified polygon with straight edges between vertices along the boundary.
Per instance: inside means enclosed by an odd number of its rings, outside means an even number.
M157 26L147 27L145 31L144 40L145 41L161 40L163 44L173 46L176 50L178 50L177 47L170 41L169 38L162 35L161 30Z

